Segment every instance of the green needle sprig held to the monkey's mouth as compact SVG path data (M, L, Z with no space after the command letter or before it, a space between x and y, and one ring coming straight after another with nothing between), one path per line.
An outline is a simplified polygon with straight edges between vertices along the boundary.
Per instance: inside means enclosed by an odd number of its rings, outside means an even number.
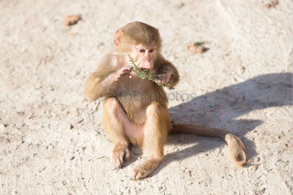
M134 58L132 58L130 56L130 54L127 54L127 57L129 58L129 61L130 61L130 64L134 66L134 69L132 71L134 71L135 73L137 73L138 77L141 78L141 79L149 79L149 81L152 81L152 82L155 82L156 80L156 71L150 71L150 70L142 70L140 67L139 67L139 64L138 63L137 65L135 64L135 62L137 60L133 60ZM171 83L170 83L170 80L168 81L168 83L165 83L165 84L158 84L159 86L162 86L162 87L167 87L169 90L171 89L175 89Z

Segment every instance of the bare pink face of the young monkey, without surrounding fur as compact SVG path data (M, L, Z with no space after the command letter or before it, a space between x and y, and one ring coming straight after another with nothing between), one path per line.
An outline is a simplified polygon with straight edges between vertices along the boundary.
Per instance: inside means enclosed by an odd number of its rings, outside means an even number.
M136 64L145 70L151 70L154 67L154 59L156 56L156 49L147 49L142 45L133 47L131 57L134 58Z

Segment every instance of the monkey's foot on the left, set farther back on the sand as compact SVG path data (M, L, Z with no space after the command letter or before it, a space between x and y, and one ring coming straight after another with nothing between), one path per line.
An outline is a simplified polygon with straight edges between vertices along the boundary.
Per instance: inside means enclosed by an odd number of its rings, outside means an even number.
M127 145L116 144L112 153L112 162L116 168L120 168L123 165L123 160L130 161L131 155Z

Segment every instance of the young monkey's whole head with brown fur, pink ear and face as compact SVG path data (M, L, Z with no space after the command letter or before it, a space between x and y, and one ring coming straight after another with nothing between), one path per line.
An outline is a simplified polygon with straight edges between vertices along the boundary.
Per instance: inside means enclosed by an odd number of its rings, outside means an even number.
M151 70L162 47L159 30L142 22L128 23L116 31L114 45L122 53L129 53L142 69Z

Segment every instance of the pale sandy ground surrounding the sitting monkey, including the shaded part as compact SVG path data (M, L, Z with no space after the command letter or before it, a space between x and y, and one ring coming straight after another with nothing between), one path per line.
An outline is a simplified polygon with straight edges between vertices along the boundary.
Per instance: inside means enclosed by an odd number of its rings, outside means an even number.
M0 1L0 194L291 194L292 1L267 2ZM197 94L170 101L171 119L233 132L244 167L219 138L182 134L151 177L130 180L144 160L135 147L113 170L102 104L83 92L115 30L135 20L159 28L178 68L168 93ZM189 52L193 41L209 50Z

